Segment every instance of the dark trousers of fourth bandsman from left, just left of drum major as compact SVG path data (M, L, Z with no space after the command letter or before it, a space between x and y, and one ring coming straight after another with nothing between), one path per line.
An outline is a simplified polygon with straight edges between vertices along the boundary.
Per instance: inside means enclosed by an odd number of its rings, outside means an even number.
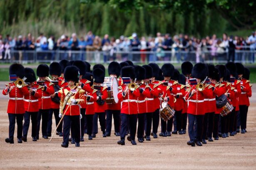
M48 122L47 122L47 134L52 134L52 114L54 114L55 124L57 126L61 119L59 117L59 113L60 113L60 109L49 110ZM62 122L60 123L60 126L57 128L57 132L62 132Z

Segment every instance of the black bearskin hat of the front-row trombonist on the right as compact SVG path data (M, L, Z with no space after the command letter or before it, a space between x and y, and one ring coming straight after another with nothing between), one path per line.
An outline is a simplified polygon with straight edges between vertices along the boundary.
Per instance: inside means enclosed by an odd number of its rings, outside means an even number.
M206 76L208 75L208 67L204 63L196 63L195 66L192 68L192 77L198 78L203 81Z

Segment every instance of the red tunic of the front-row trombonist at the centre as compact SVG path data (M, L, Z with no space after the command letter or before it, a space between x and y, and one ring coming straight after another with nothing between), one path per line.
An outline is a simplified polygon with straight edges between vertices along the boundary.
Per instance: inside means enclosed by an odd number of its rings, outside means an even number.
M119 86L118 99L121 100L121 113L123 114L137 114L138 113L138 105L137 98L140 95L139 88L131 92L130 90L123 96L123 91L127 85Z

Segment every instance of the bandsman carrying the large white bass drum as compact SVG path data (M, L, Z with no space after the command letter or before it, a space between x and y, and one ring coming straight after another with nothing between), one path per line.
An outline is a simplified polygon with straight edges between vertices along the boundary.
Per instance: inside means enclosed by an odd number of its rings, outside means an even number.
M120 75L121 66L116 61L112 61L108 66L108 73L110 77L118 78ZM119 81L120 82L120 81ZM121 85L121 84L119 84ZM114 119L114 135L120 136L120 109L121 102L114 104L107 104L107 117L106 117L106 134L111 135L112 128L112 115Z

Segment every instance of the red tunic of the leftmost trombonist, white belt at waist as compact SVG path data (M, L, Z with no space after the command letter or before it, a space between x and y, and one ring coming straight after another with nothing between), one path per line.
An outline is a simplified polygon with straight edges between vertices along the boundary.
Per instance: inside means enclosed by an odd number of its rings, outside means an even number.
M3 95L9 94L9 101L7 106L7 113L12 114L24 114L25 107L23 97L24 95L28 94L29 91L27 89L27 85L23 86L22 88L16 87L14 82L8 83L5 85L5 89L2 90ZM10 91L10 87L13 86L14 88Z

